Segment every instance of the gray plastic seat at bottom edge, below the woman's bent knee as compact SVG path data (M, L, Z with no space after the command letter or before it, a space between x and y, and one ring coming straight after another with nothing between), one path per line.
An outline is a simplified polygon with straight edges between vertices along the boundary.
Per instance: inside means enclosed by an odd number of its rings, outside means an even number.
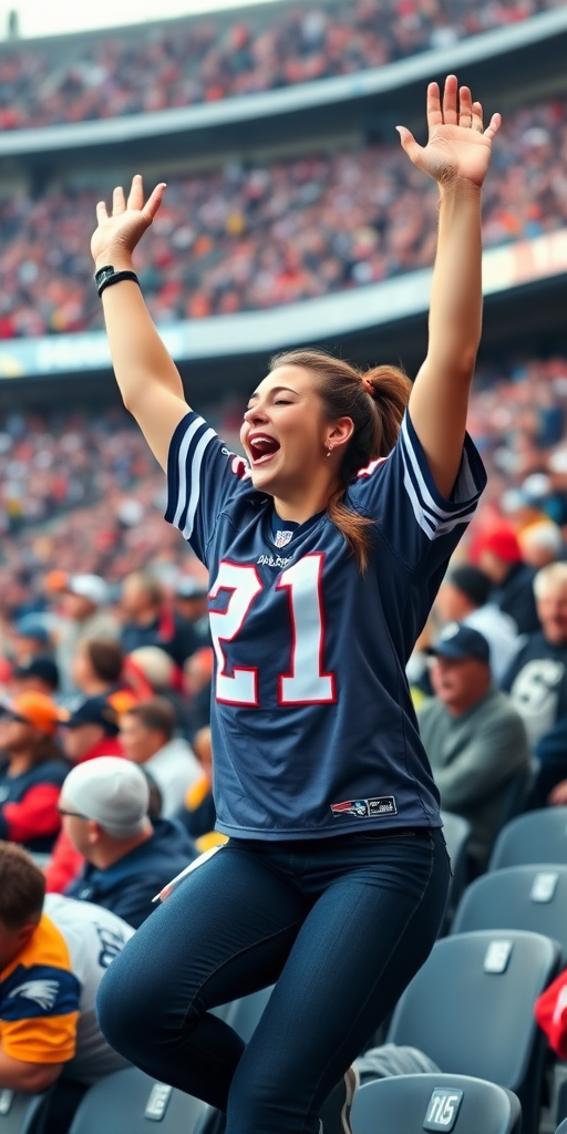
M127 1067L90 1088L69 1134L201 1134L212 1112L200 1099Z

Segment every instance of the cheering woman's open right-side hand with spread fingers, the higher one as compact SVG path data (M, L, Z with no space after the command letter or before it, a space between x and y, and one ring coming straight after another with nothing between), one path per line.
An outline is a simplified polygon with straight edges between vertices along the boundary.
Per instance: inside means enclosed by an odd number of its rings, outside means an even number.
M428 127L425 146L405 126L397 127L414 166L439 185L460 179L480 187L489 168L492 139L500 128L500 115L492 115L490 125L483 129L481 103L472 101L467 86L459 88L455 75L448 75L442 103L439 85L428 86Z

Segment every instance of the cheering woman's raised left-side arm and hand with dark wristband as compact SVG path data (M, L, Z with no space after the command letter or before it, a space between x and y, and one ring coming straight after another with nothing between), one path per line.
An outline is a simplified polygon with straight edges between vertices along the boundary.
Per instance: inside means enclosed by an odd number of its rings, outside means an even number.
M132 183L128 201L121 188L115 189L112 215L104 202L96 206L98 228L91 251L95 269L111 265L115 271L132 271L132 255L153 221L164 192L158 185L144 204L142 178ZM102 293L104 321L116 379L127 409L136 418L152 452L167 467L169 443L176 426L187 413L179 371L155 330L139 287L121 280Z

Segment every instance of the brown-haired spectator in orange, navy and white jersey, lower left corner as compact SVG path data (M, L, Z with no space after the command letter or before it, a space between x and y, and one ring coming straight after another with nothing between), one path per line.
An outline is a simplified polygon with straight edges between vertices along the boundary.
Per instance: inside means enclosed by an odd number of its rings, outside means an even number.
M0 1088L33 1093L61 1075L86 1089L127 1066L103 1039L94 1000L133 930L107 909L44 891L29 855L0 843ZM58 1125L53 1116L50 1134Z

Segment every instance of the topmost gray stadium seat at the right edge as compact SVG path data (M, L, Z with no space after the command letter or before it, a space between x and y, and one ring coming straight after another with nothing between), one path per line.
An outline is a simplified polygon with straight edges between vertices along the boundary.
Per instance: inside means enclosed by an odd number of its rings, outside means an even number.
M567 807L518 815L500 831L489 870L558 862L567 865Z

